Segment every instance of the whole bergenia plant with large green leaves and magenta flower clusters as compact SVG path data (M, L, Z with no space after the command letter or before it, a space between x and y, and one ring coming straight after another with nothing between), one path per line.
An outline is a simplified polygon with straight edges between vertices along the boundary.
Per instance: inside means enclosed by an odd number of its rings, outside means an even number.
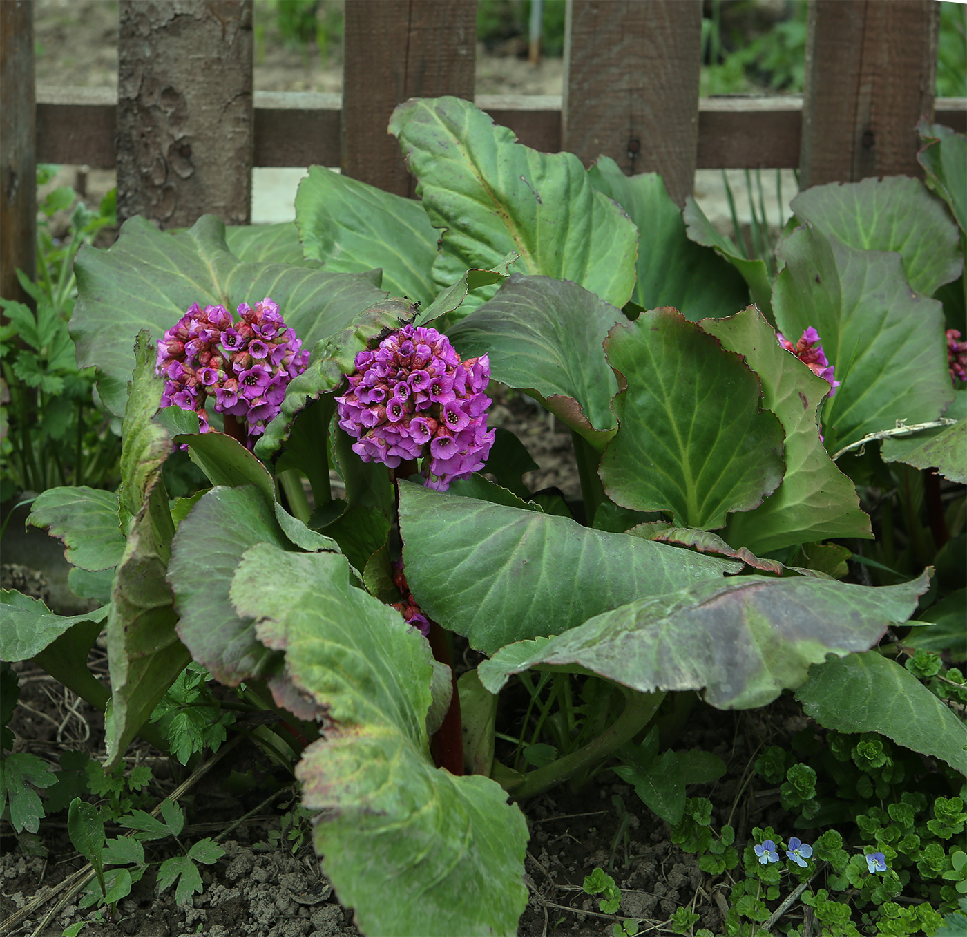
M65 619L5 596L4 659L103 707L81 661L106 621L110 764L192 659L284 711L274 755L369 934L515 933L518 803L563 782L610 766L681 821L695 763L656 720L697 694L795 692L967 773L963 725L879 649L929 613L939 553L873 586L840 581L833 543L872 537L846 472L875 440L877 471L965 481L957 324L932 298L962 271L962 200L802 192L771 280L655 174L537 153L453 98L390 130L416 200L312 167L295 224L135 218L81 251L72 330L124 420L124 482L47 491L30 520L110 600ZM526 440L487 425L509 390L570 429L579 499L532 491ZM211 486L171 501L179 446ZM511 682L537 721L498 724Z

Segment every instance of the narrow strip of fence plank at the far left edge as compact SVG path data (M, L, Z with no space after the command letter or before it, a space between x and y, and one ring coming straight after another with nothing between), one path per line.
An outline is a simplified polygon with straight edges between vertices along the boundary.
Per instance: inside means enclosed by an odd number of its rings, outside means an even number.
M31 302L16 278L37 270L37 164L34 157L34 5L0 3L0 296Z

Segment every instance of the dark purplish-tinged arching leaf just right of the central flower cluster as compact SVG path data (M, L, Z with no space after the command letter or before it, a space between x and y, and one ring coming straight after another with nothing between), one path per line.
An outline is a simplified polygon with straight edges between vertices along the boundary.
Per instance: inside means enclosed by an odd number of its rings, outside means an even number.
M601 449L613 434L618 390L603 342L619 321L620 309L576 283L514 274L447 337L464 358L489 355L495 380L532 392Z

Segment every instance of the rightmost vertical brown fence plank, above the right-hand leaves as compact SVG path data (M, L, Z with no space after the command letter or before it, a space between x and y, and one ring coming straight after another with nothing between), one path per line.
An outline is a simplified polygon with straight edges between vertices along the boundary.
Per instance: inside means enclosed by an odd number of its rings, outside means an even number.
M933 113L939 4L811 0L800 184L919 175L917 133Z

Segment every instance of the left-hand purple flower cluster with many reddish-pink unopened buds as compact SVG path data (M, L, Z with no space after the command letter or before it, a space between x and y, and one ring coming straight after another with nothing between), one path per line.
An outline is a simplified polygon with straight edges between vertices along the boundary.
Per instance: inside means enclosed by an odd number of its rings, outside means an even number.
M161 406L198 414L208 432L206 405L244 424L249 449L281 409L289 381L308 364L308 350L286 327L269 297L238 307L232 322L225 307L195 303L158 343L157 371L165 377Z

